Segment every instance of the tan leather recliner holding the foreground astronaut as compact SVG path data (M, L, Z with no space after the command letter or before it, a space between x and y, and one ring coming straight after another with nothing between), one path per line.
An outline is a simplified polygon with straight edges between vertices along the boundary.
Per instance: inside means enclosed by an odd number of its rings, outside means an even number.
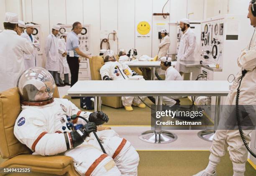
M54 97L59 97L58 89L54 90ZM31 150L16 139L13 129L19 114L20 95L18 89L12 88L0 92L0 155L3 159L7 159L0 164L0 168L30 168L35 173L33 175L44 173L79 176L74 169L71 157L32 155Z

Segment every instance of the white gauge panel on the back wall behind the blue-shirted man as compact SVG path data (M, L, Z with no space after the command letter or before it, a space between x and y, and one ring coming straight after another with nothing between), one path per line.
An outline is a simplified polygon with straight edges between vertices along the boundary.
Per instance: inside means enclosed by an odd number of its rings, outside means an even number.
M72 25L59 25L58 38L63 38L64 32L71 32ZM82 32L78 35L79 38L79 49L88 54L90 52L90 25L82 25Z

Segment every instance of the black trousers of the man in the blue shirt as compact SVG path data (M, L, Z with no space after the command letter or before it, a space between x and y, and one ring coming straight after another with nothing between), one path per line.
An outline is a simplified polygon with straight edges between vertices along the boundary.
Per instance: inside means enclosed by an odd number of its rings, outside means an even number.
M69 55L67 55L67 62L69 64L69 69L71 73L72 87L78 81L79 59L78 57L69 57Z

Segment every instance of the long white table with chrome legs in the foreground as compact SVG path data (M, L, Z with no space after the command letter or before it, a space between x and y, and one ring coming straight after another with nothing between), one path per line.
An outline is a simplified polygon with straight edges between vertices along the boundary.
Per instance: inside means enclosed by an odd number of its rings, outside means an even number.
M95 112L101 110L100 96L155 96L156 105L162 104L163 96L215 96L215 125L218 125L220 97L228 95L229 85L228 81L78 81L68 90L68 94L95 97ZM214 131L204 130L200 135L209 140ZM169 143L177 138L157 125L154 131L146 131L139 137L150 143Z

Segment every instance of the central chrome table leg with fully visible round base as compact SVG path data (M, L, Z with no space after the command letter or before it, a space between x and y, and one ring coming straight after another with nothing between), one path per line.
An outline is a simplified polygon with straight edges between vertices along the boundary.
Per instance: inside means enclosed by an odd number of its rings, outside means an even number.
M163 98L162 97L156 97L156 108L157 105L162 105ZM161 107L158 107L159 109L156 109L156 111L161 111ZM149 143L171 143L173 141L177 140L177 135L173 134L169 131L162 131L161 125L155 124L155 130L145 131L140 136L138 136L139 139L145 142Z

